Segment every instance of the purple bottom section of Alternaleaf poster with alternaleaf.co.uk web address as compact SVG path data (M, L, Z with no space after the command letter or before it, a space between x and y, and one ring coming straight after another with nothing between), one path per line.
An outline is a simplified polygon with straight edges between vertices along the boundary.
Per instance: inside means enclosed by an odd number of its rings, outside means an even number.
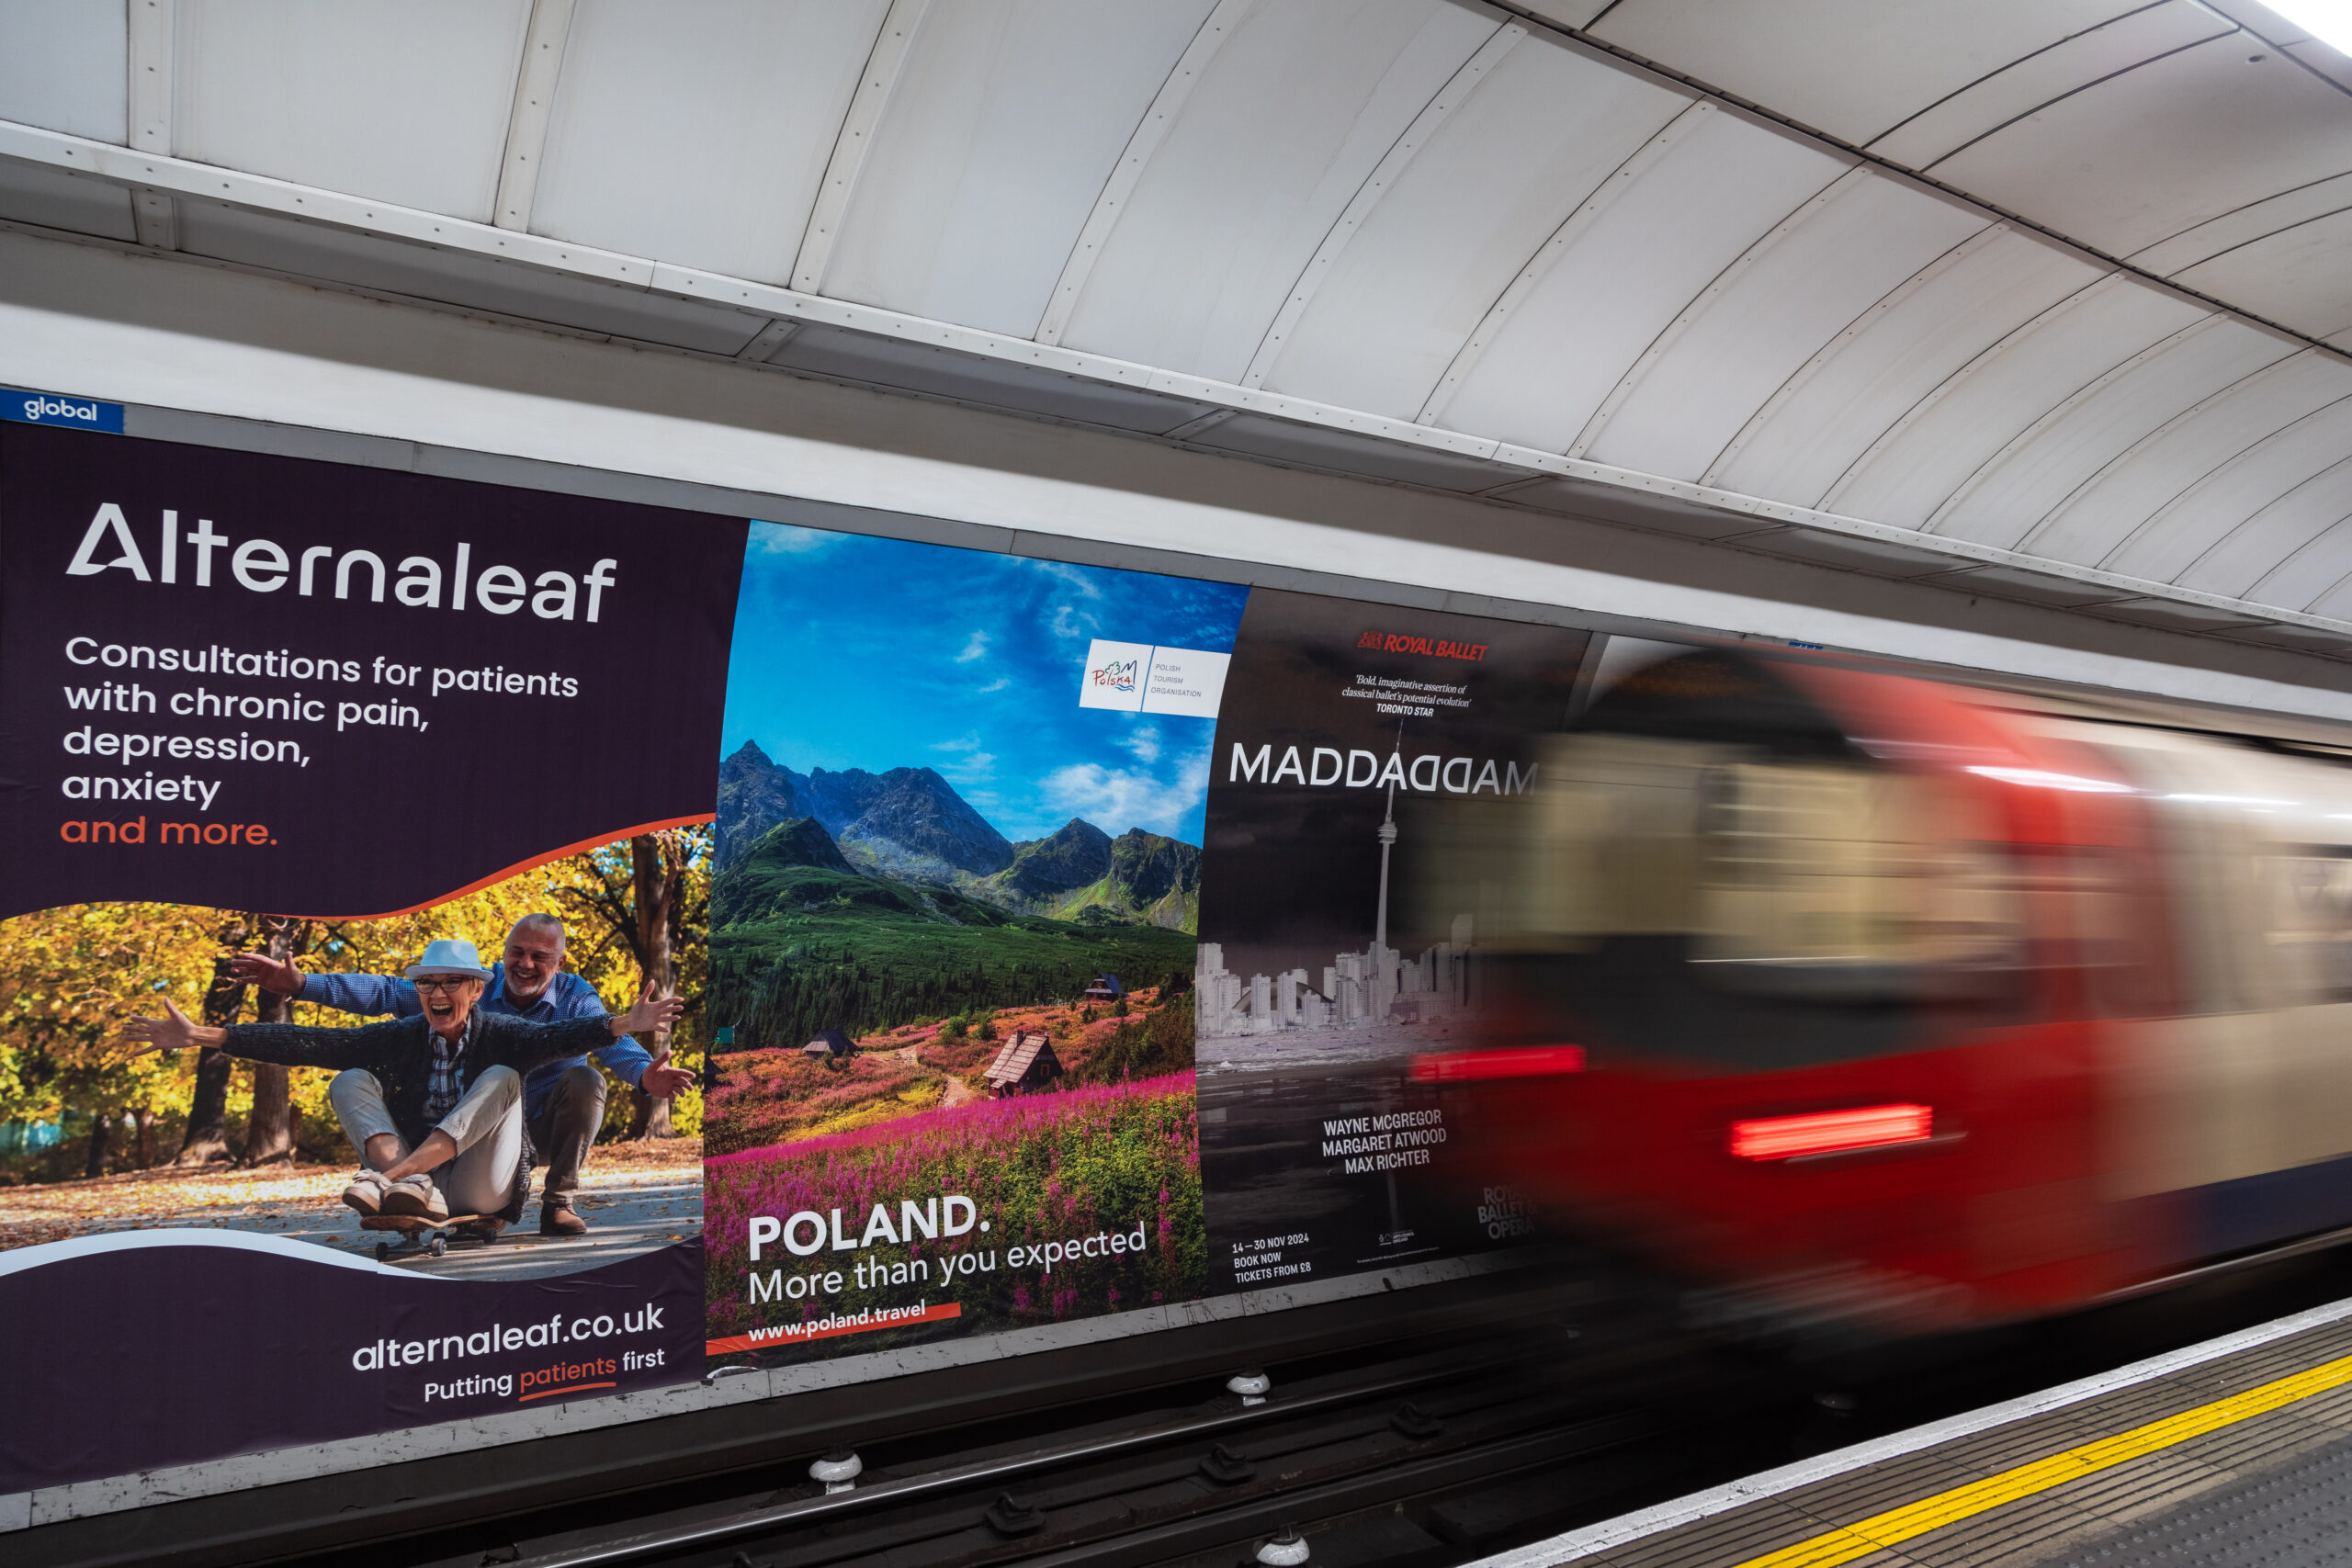
M701 1241L517 1281L405 1274L238 1232L38 1251L45 1262L12 1272L0 1253L0 1324L26 1335L9 1359L0 1493L529 1410L703 1368Z

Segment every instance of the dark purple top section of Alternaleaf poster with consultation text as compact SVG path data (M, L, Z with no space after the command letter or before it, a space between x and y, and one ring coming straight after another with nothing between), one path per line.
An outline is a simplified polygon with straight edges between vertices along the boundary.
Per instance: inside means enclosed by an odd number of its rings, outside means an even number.
M390 914L708 818L743 538L0 425L0 917Z

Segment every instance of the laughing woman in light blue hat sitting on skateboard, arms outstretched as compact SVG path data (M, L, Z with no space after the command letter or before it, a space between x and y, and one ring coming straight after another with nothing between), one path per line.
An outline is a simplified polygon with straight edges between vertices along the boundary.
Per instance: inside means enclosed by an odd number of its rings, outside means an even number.
M522 1133L522 1077L550 1060L581 1056L614 1039L666 1030L684 1011L654 985L626 1013L529 1023L482 1013L475 1001L489 969L473 943L426 943L407 969L423 1011L416 1018L332 1030L296 1023L191 1023L165 1001L165 1018L136 1018L125 1030L143 1051L219 1046L230 1056L287 1067L336 1067L327 1086L343 1135L360 1152L360 1175L343 1201L374 1215L426 1222L452 1213L480 1215L466 1232L496 1237L522 1218L532 1190Z

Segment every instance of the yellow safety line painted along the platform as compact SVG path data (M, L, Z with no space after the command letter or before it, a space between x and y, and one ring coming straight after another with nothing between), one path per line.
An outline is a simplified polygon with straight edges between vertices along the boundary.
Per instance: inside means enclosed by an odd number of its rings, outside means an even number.
M2079 1481L2103 1469L2129 1465L2131 1460L2159 1453L2173 1443L2185 1443L2192 1436L2220 1432L2223 1427L2232 1427L2241 1420L2291 1406L2298 1399L2340 1389L2347 1382L2352 1382L2352 1356L2279 1378L2277 1382L2265 1382L2256 1389L2246 1389L2244 1394L2216 1399L2209 1406L2197 1406L2194 1410L2183 1410L2180 1415L2152 1420L2145 1427L2133 1427L2131 1432L2103 1436L2096 1443L2084 1443L2082 1448L2053 1453L2046 1460L2032 1460L2030 1465L2004 1469L1997 1476L1985 1476L1983 1481L1971 1481L1969 1486L1955 1486L1947 1493L1936 1493L1933 1497L1922 1497L1919 1502L1905 1502L1898 1509L1886 1509L1884 1514L1872 1514L1858 1523L1839 1526L1825 1535L1799 1540L1795 1547L1780 1547L1778 1552L1748 1559L1738 1568L1837 1568L1837 1563L1851 1563L1870 1556L1872 1552L1898 1547L1907 1540L1926 1535L1929 1530L1940 1530L1947 1523L1959 1523L1962 1519L1997 1509L2004 1502L2032 1497L2051 1490L2053 1486L2065 1486L2067 1481Z

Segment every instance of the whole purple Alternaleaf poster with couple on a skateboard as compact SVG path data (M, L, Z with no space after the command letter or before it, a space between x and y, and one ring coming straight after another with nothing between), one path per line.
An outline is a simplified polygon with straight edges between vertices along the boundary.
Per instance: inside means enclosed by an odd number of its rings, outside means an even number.
M743 538L0 425L0 1493L701 1371Z

